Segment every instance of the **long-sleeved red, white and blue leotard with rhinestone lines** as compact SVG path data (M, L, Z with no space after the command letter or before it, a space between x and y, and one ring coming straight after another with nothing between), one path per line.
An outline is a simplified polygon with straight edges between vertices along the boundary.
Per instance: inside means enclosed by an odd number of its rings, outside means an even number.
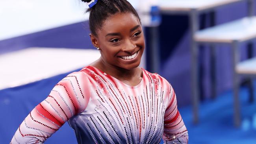
M131 87L86 66L59 81L37 105L11 144L43 143L65 122L79 144L187 144L188 134L167 80L142 69L139 85Z

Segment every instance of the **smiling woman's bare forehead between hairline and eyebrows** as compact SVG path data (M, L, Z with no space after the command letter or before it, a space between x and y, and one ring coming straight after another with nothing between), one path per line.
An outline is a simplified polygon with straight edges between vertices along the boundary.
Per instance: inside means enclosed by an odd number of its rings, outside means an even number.
M102 33L121 32L140 25L139 19L132 13L117 13L107 18L100 30Z

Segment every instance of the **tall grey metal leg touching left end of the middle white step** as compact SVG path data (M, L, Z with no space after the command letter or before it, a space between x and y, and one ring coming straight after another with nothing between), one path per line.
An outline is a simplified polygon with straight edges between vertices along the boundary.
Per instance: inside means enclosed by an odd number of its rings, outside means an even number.
M198 30L198 15L197 11L193 9L190 15L190 30L191 30L191 88L192 88L192 101L193 101L193 121L198 123L198 104L199 104L199 91L198 91L198 48L197 43L194 41L193 36Z

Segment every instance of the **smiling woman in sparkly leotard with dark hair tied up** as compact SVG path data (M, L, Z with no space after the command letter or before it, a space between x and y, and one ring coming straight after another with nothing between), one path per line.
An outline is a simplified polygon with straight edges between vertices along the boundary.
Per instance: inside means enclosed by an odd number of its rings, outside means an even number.
M59 81L11 143L45 142L68 121L79 144L159 143L161 138L187 144L173 88L138 67L145 41L135 9L126 0L90 3L90 37L100 59Z

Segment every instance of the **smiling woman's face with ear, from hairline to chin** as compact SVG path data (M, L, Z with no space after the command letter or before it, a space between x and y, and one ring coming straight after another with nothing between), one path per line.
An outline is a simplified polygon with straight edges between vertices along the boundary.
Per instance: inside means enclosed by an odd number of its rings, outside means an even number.
M145 41L139 19L132 13L109 17L97 34L97 37L91 35L91 40L100 47L101 60L105 65L127 70L139 66Z

